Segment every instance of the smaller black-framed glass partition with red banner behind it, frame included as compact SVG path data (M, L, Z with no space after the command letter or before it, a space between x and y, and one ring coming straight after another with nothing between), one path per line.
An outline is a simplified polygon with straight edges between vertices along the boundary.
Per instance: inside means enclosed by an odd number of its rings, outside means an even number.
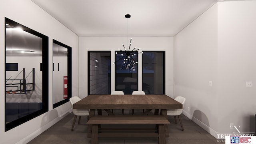
M69 102L72 94L71 47L53 40L53 108Z

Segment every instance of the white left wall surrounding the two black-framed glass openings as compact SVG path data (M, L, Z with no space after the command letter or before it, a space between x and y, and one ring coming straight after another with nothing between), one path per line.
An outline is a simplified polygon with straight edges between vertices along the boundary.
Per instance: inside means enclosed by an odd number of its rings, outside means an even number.
M0 144L25 144L69 113L66 103L52 109L52 39L72 47L72 95L78 95L78 36L52 18L30 0L0 1L0 66L4 68L4 17L10 18L28 28L49 37L49 112L42 114L16 128L4 132L4 96L0 97ZM0 92L4 95L4 69L0 74ZM44 117L48 120L44 122Z

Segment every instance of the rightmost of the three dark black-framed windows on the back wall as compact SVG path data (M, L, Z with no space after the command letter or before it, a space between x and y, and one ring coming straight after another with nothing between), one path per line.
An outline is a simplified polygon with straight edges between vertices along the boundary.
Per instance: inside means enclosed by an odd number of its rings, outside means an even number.
M142 90L146 94L165 94L164 51L143 51Z

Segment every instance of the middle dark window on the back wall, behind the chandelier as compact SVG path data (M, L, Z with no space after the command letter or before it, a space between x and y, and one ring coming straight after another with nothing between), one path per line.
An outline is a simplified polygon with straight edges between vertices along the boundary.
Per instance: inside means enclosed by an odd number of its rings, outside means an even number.
M115 53L115 90L122 90L124 94L132 94L134 90L138 90L138 52L116 51Z

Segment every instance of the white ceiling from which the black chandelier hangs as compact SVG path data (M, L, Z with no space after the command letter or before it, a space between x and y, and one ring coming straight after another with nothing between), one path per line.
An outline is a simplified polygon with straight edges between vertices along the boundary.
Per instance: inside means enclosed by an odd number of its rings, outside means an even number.
M32 1L78 36L174 36L220 0Z

